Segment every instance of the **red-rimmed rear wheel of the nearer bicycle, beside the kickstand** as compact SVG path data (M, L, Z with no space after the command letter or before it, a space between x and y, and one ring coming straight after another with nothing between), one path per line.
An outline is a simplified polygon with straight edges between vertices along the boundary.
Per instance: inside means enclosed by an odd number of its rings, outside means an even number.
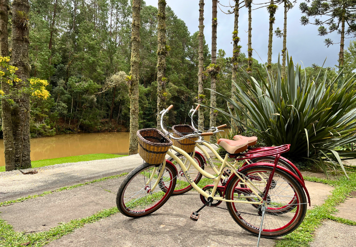
M268 177L272 170L273 167L255 165L242 170L240 174L243 174L245 178L248 178L249 176L254 176L254 174L264 173L265 176ZM268 192L267 208L269 208L269 210L266 210L263 231L261 233L261 236L265 238L281 237L293 232L302 223L307 212L307 198L303 191L303 187L292 175L276 168L273 179L276 181L276 186L273 190L270 189ZM237 198L239 193L241 198L242 193L237 189L239 182L240 179L237 176L234 176L227 184L225 193L227 200ZM264 191L265 188L260 188L257 183L254 184L260 191ZM277 192L276 189L279 189L279 192ZM243 195L256 197L254 194L247 192ZM260 196L263 198L264 195L261 194ZM283 202L290 202L294 197L297 200L297 205L293 208L294 210L282 214L276 213L275 210L271 210L272 207L279 206L278 204L281 204L281 202L285 205ZM259 234L261 224L261 214L259 214L259 209L261 206L256 208L245 203L232 202L226 202L226 206L237 224L254 235Z

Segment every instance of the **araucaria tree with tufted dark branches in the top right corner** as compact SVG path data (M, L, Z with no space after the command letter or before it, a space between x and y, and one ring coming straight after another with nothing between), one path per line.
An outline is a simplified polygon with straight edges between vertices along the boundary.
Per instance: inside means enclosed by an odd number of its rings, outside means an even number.
M308 0L307 2L310 2ZM345 35L349 38L356 37L356 0L312 0L310 6L306 2L299 5L302 13L306 14L301 17L302 25L313 24L319 26L319 36L325 36L337 31L340 34L340 53L339 53L339 70L344 68L344 43ZM321 20L316 17L324 17ZM309 20L314 18L314 22ZM329 30L324 26L329 26ZM331 39L325 39L325 45L336 44Z

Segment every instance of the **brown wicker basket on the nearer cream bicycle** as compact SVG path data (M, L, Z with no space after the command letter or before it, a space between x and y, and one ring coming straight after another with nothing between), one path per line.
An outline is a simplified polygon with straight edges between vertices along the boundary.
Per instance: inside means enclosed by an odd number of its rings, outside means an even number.
M151 165L163 163L172 141L156 128L144 128L137 131L138 153Z

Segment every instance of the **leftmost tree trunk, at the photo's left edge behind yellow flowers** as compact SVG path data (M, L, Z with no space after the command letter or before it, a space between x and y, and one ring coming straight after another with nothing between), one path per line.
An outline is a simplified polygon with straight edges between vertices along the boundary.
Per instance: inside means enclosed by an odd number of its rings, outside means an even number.
M0 56L8 56L8 5L7 0L0 0ZM1 90L8 94L10 91L9 84L1 82ZM6 100L1 100L2 110L2 133L4 141L4 154L5 154L5 169L15 169L15 147L12 135L12 119L11 119L11 106Z

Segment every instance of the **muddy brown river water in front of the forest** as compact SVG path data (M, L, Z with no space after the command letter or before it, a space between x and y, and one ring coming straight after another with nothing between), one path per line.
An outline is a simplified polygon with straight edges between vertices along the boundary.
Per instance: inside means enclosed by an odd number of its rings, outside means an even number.
M225 129L227 130L227 129ZM31 139L31 161L86 154L128 154L130 132L64 134ZM209 136L205 137L209 140ZM5 165L0 139L0 166Z

